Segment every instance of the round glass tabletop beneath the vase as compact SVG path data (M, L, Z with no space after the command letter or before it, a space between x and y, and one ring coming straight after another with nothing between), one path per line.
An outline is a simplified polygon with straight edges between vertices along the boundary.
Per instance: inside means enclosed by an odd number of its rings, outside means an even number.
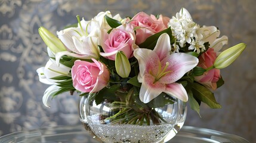
M90 133L84 129L82 125L75 126L57 126L53 128L36 129L29 131L20 131L10 133L0 137L1 143L11 142L98 142L90 136ZM206 143L206 142L220 142L220 143L239 143L246 142L246 139L237 135L229 133L218 132L211 129L196 128L192 126L183 126L174 138L171 139L172 143Z

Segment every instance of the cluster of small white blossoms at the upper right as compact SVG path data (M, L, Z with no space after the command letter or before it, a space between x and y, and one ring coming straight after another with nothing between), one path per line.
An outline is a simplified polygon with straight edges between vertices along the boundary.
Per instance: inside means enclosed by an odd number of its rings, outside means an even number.
M211 27L200 27L193 20L189 11L185 8L181 8L180 13L176 14L176 17L172 17L169 20L168 26L171 27L172 35L175 36L176 42L174 43L174 51L178 52L179 47L176 45L178 43L181 48L189 43L189 49L194 50L198 54L205 51L205 45L203 45L208 36L212 33L218 32L217 28Z

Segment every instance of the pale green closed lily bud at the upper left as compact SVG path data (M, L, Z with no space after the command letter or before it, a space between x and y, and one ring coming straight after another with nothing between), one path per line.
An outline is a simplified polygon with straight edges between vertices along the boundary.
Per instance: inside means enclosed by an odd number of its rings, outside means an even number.
M39 27L39 35L45 42L45 44L51 49L54 54L61 51L67 51L63 43L53 33L45 29L45 27Z

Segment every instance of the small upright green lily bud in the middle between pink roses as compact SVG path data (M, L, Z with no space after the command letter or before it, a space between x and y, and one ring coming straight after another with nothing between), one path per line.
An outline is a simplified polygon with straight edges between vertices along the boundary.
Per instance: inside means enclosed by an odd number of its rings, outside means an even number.
M123 78L129 76L129 73L131 72L131 65L129 64L129 60L123 51L116 53L115 66L116 72L119 76Z

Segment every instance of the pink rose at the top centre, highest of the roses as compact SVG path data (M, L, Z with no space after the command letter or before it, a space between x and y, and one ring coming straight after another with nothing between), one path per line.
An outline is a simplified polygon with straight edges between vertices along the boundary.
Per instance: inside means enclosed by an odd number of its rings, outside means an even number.
M156 19L156 17L150 17L150 15L140 12L136 14L131 22L136 27L140 27L136 30L136 44L143 43L149 36L155 33L161 32L167 28L167 24L164 21Z

